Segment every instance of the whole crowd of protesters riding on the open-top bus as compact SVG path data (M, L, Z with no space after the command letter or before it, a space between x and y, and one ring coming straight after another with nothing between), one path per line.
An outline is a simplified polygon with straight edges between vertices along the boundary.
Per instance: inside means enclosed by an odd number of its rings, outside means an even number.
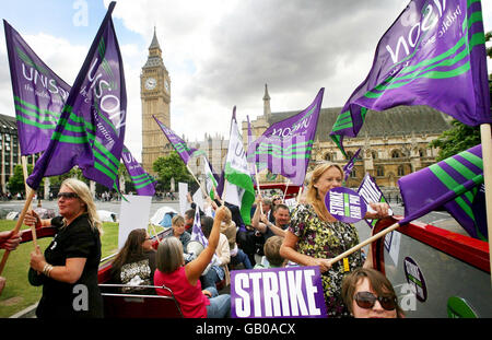
M231 270L318 266L328 316L356 317L364 315L362 310L365 315L401 317L390 283L370 268L371 258L365 259L361 251L355 251L348 257L348 266L329 262L330 258L359 243L355 227L337 221L323 200L329 189L341 186L342 169L326 163L308 178L307 189L292 208L285 204L283 192L258 194L249 224L244 223L238 207L223 202L215 192L215 200L208 199L209 215L200 211L201 231L207 242L198 247L191 239L196 224L196 204L192 202L192 209L183 216L173 218L173 233L160 241L156 249L152 248L145 230L134 231L115 260L113 281L132 285L142 282L155 286L165 284L172 289L185 317L229 317L231 296L226 289L231 283ZM85 195L89 189L79 185L78 181L63 184L63 190L58 195L60 218L40 220L28 213L24 221L27 225L60 228L44 255L39 249L31 255L30 282L44 285L37 313L42 318L102 316L96 282L101 257L99 222L92 215L95 206L90 195ZM372 204L372 208L374 212L367 218L388 215L386 203ZM81 219L83 228L72 226L72 221ZM75 231L84 237L70 238L69 234ZM65 234L67 239L61 237ZM1 236L2 248L13 250L19 245L17 234L3 233ZM362 268L366 271L361 272ZM89 314L73 313L70 298L60 297L60 290L54 290L71 288L81 280L92 290L93 305ZM4 282L4 279L0 280L0 290ZM139 290L129 291L139 293ZM159 288L142 292L168 294Z

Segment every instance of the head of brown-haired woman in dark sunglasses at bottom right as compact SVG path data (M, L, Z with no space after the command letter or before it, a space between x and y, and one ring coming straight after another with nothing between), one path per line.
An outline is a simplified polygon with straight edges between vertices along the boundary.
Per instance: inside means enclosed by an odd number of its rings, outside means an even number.
M359 268L343 279L342 297L355 318L405 317L391 282L371 268Z

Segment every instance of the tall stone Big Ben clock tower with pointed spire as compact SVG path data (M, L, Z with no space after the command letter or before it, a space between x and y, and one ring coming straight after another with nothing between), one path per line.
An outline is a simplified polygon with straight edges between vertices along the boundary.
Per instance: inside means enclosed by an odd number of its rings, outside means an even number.
M162 60L155 28L149 46L149 58L140 74L140 97L142 99L142 166L147 172L154 174L152 169L154 161L169 153L172 149L167 145L167 138L152 118L155 116L171 128L171 79Z

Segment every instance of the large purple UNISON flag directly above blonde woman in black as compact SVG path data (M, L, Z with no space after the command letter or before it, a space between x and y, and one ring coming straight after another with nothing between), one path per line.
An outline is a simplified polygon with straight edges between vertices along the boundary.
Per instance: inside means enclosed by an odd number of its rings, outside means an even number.
M67 173L74 165L89 179L110 189L117 186L127 94L112 20L115 4L109 4L49 145L26 180L33 189L37 189L43 177Z

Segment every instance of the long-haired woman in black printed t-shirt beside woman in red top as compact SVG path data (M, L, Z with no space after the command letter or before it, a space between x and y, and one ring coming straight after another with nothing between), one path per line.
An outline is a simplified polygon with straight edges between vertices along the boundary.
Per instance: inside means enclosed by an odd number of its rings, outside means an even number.
M142 289L138 285L153 285L155 272L155 249L149 233L144 228L132 230L127 241L112 263L112 282L128 284L122 293L154 295L153 288Z

